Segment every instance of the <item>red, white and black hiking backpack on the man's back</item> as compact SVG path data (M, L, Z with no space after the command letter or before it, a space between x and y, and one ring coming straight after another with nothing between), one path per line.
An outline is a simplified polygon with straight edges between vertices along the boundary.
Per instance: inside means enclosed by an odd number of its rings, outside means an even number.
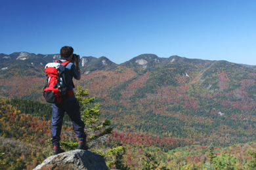
M60 103L64 99L74 95L73 90L67 90L65 80L65 69L70 61L58 60L45 65L47 80L43 90L43 96L48 103ZM73 84L74 86L74 84Z

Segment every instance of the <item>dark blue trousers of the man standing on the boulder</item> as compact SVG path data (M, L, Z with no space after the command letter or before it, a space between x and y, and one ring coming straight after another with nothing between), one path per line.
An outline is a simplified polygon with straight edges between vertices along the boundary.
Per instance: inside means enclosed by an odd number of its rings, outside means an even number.
M53 117L51 123L51 133L53 139L51 140L54 146L60 146L60 132L63 123L64 113L67 113L72 120L73 129L79 141L86 141L85 123L81 120L81 113L79 110L79 103L77 99L72 101L62 101L58 104L53 104Z

